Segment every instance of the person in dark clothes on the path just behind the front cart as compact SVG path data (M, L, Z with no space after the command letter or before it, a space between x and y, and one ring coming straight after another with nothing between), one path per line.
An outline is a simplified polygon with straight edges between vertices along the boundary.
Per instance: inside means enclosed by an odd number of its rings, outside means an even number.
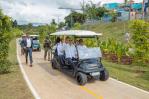
M44 60L46 60L46 57L48 55L48 61L50 61L50 55L51 55L51 40L49 40L49 37L46 37L43 44L44 48Z

